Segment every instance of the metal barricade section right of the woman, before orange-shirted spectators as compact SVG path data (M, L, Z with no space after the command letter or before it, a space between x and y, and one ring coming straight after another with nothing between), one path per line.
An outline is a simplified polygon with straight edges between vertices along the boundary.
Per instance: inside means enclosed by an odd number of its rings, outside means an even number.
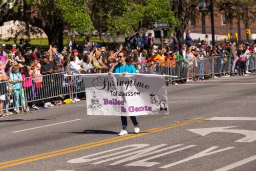
M159 74L169 75L169 63L168 61L154 62L154 63L141 63L138 64L138 70L141 74ZM169 84L170 77L164 77L165 82Z

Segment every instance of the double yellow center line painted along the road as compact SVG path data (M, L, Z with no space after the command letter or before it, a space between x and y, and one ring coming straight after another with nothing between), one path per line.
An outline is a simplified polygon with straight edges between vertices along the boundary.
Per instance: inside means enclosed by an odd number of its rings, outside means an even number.
M73 152L81 151L83 149L92 148L92 147L96 147L96 146L100 146L100 145L104 145L104 144L109 144L109 143L113 143L113 142L123 141L123 140L126 140L126 139L139 137L139 136L142 136L142 135L156 133L156 132L159 132L159 131L172 129L172 128L177 127L177 126L182 126L182 125L186 125L186 124L189 124L189 123L194 123L196 121L205 120L205 119L207 119L207 118L205 118L205 117L194 118L194 119L191 119L191 120L186 120L184 122L170 124L170 125L173 125L173 126L165 125L165 126L157 127L157 128L150 129L150 130L145 130L145 131L141 132L140 134L130 134L130 135L126 135L126 136L110 138L110 139L101 140L101 141L97 141L97 142L92 142L92 143L88 143L88 144L77 145L77 146L70 147L70 148L60 149L60 150L54 151L54 152L49 152L49 153L44 153L44 154L40 154L40 155L30 156L30 157L21 158L21 159L12 160L12 161L7 161L7 162L0 163L0 165L4 165L4 166L0 166L0 169L10 167L10 166L14 166L14 165L27 163L27 162L32 162L32 161L36 161L36 160L40 160L40 159L45 159L45 158L49 158L49 157L54 157L54 156L59 156L59 155L63 155L63 154L73 153ZM155 131L152 131L152 130L155 130ZM148 132L148 131L150 131L150 132ZM81 148L79 148L79 147L81 147ZM74 148L76 148L76 149L74 149ZM70 149L72 149L72 150L70 150ZM8 164L8 163L11 163L11 164Z

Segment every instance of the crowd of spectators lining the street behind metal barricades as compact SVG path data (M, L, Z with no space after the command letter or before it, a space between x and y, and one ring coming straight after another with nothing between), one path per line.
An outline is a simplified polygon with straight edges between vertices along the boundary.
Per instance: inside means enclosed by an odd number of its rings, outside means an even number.
M230 58L231 76L243 75L246 76L250 72L248 65L251 60L251 54L256 53L256 44L250 47L247 44L238 44L235 42L226 42L223 44L210 45L208 35L201 41L200 44L193 46L193 39L189 36L189 31L186 33L187 43L179 46L177 37L173 36L173 41L165 38L164 47L161 49L154 44L152 33L146 36L139 33L135 35L129 34L125 36L125 44L120 45L113 50L106 51L105 47L100 47L96 42L87 37L82 53L79 54L75 35L71 36L68 46L63 46L63 49L57 49L50 45L49 50L40 52L38 47L31 48L29 41L21 38L19 44L13 45L10 53L6 53L3 44L0 49L0 80L1 82L10 81L12 84L11 90L15 96L15 109L19 113L19 102L22 102L23 109L29 112L31 109L38 110L38 103L30 102L26 105L25 100L31 98L29 94L33 94L33 89L44 88L49 83L45 80L44 75L67 72L70 74L77 73L107 73L113 71L113 68L118 64L118 53L122 52L125 56L131 59L132 65L135 66L138 73L153 74L154 68L158 71L169 70L172 75L178 75L177 66L180 66L180 71L186 68L185 79L177 79L172 81L172 84L180 84L192 81L202 81L207 79L209 75L205 74L204 68L209 67L209 63L205 59L218 56L219 69L222 71L223 63ZM144 65L144 66L143 66ZM146 67L146 70L143 68ZM191 68L194 67L194 70ZM199 68L198 74L193 78L189 78L192 72ZM169 72L170 73L170 72ZM159 73L158 73L159 74ZM163 74L163 73L160 73ZM215 77L223 77L220 72ZM32 77L32 78L31 78ZM75 81L78 78L75 77ZM74 80L72 80L74 81ZM20 84L22 82L22 84ZM60 81L62 82L62 81ZM34 85L34 86L32 86ZM8 98L8 83L0 83L0 110L4 108L4 100ZM49 88L48 88L49 89ZM26 95L24 91L26 90ZM82 97L84 98L84 97ZM73 102L79 101L77 94ZM59 98L53 101L45 101L44 107L59 105L63 102ZM8 107L7 107L8 109ZM0 111L0 117L11 114L12 112L3 110Z

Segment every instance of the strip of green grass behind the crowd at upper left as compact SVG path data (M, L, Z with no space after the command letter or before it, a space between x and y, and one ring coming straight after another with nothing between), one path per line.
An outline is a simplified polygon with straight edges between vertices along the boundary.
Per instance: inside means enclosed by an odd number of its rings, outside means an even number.
M37 45L37 46L48 46L48 44L49 44L48 38L31 38L30 40L31 41L29 41L29 44L32 45L32 46L33 45L34 46L35 45ZM70 40L70 37L63 37L63 45L68 45L69 40ZM100 41L99 37L91 37L91 40L96 41L96 42L102 42L102 41ZM84 41L86 41L85 37L76 36L76 42L77 42L78 45L83 45ZM1 40L0 42L1 42L1 44L13 45L13 44L18 44L19 39L16 42L14 42L14 39L10 39L9 41L2 41ZM104 42L112 43L114 41L104 40ZM117 43L120 43L120 42L117 42ZM123 43L123 42L121 42L121 43Z

